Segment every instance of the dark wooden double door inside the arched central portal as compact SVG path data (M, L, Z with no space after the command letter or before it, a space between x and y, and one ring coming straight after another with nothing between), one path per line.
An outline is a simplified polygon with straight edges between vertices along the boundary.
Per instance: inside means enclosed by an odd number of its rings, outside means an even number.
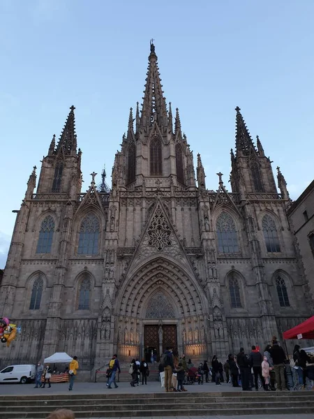
M177 325L162 325L163 334L161 343L159 327L159 325L144 326L144 348L145 358L147 358L147 360L150 360L151 351L156 355L156 360L158 361L161 353L165 351L167 346L177 349Z

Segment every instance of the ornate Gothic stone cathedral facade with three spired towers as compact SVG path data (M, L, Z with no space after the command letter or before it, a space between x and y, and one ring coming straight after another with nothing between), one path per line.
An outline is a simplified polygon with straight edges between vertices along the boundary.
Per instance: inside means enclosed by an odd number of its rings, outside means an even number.
M263 348L313 314L285 179L278 168L278 193L239 108L231 192L221 173L207 189L200 154L195 174L153 44L142 109L134 118L130 110L110 189L92 173L81 192L74 110L17 212L0 300L21 333L1 344L3 361L65 351L88 375L112 353L158 357L165 346L204 360Z

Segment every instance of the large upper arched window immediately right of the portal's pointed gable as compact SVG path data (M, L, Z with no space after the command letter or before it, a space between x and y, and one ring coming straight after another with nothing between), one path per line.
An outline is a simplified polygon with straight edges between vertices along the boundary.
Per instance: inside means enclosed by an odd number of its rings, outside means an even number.
M218 251L220 253L238 253L238 235L232 216L222 212L216 223Z

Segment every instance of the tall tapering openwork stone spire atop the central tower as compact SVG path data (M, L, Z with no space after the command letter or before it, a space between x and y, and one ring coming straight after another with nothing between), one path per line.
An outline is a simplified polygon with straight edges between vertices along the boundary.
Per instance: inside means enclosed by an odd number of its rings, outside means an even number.
M140 126L152 126L157 122L158 126L167 126L167 108L163 97L163 85L157 65L154 40L151 39L151 53L149 54L149 66L144 90L144 101Z

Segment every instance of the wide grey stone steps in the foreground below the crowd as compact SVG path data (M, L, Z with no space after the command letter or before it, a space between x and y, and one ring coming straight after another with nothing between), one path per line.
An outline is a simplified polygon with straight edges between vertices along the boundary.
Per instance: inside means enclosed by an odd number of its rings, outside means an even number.
M58 408L75 418L313 413L314 392L198 392L1 396L1 419L44 419ZM313 416L314 417L314 416Z

